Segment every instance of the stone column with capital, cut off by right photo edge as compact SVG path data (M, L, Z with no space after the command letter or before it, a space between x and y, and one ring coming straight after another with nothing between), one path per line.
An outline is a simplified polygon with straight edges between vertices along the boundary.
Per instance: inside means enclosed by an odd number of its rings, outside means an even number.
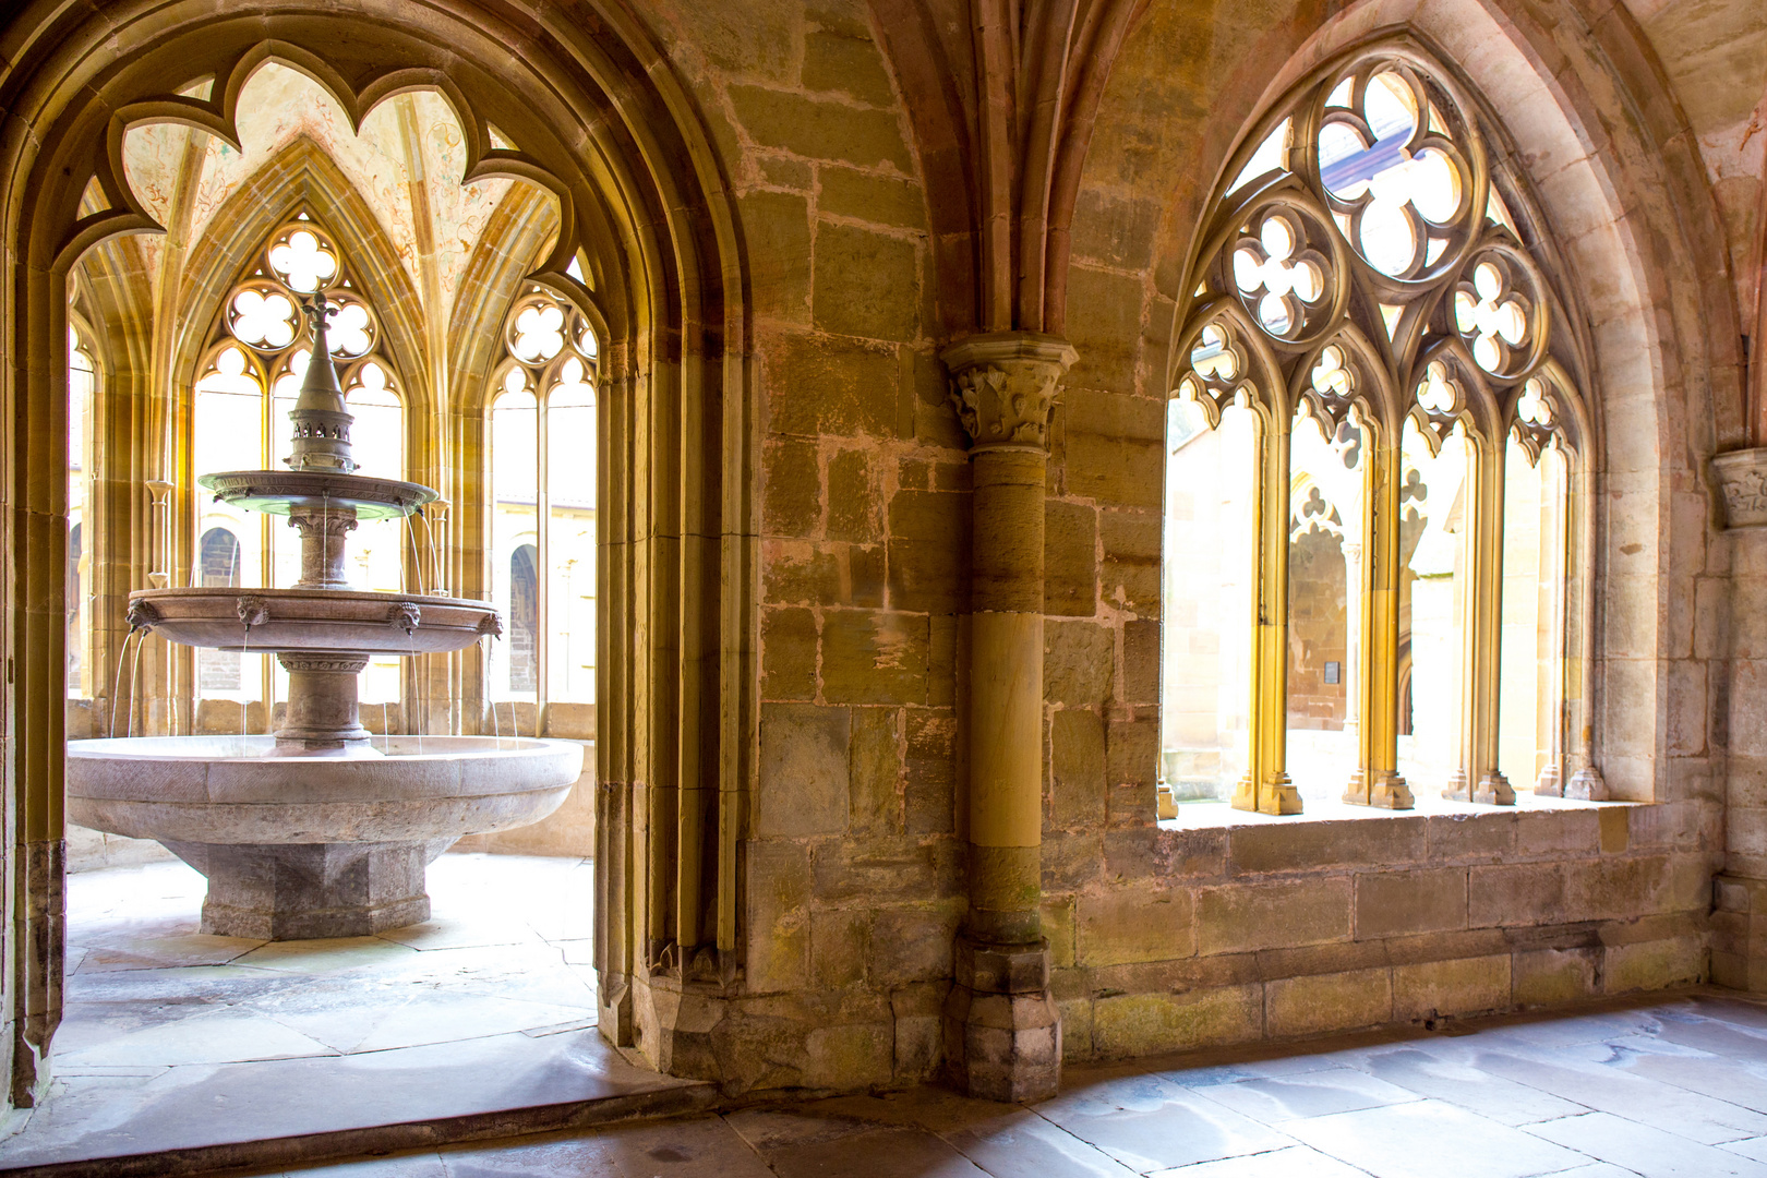
M1712 980L1767 993L1767 449L1719 454L1712 482L1730 539L1730 747Z

